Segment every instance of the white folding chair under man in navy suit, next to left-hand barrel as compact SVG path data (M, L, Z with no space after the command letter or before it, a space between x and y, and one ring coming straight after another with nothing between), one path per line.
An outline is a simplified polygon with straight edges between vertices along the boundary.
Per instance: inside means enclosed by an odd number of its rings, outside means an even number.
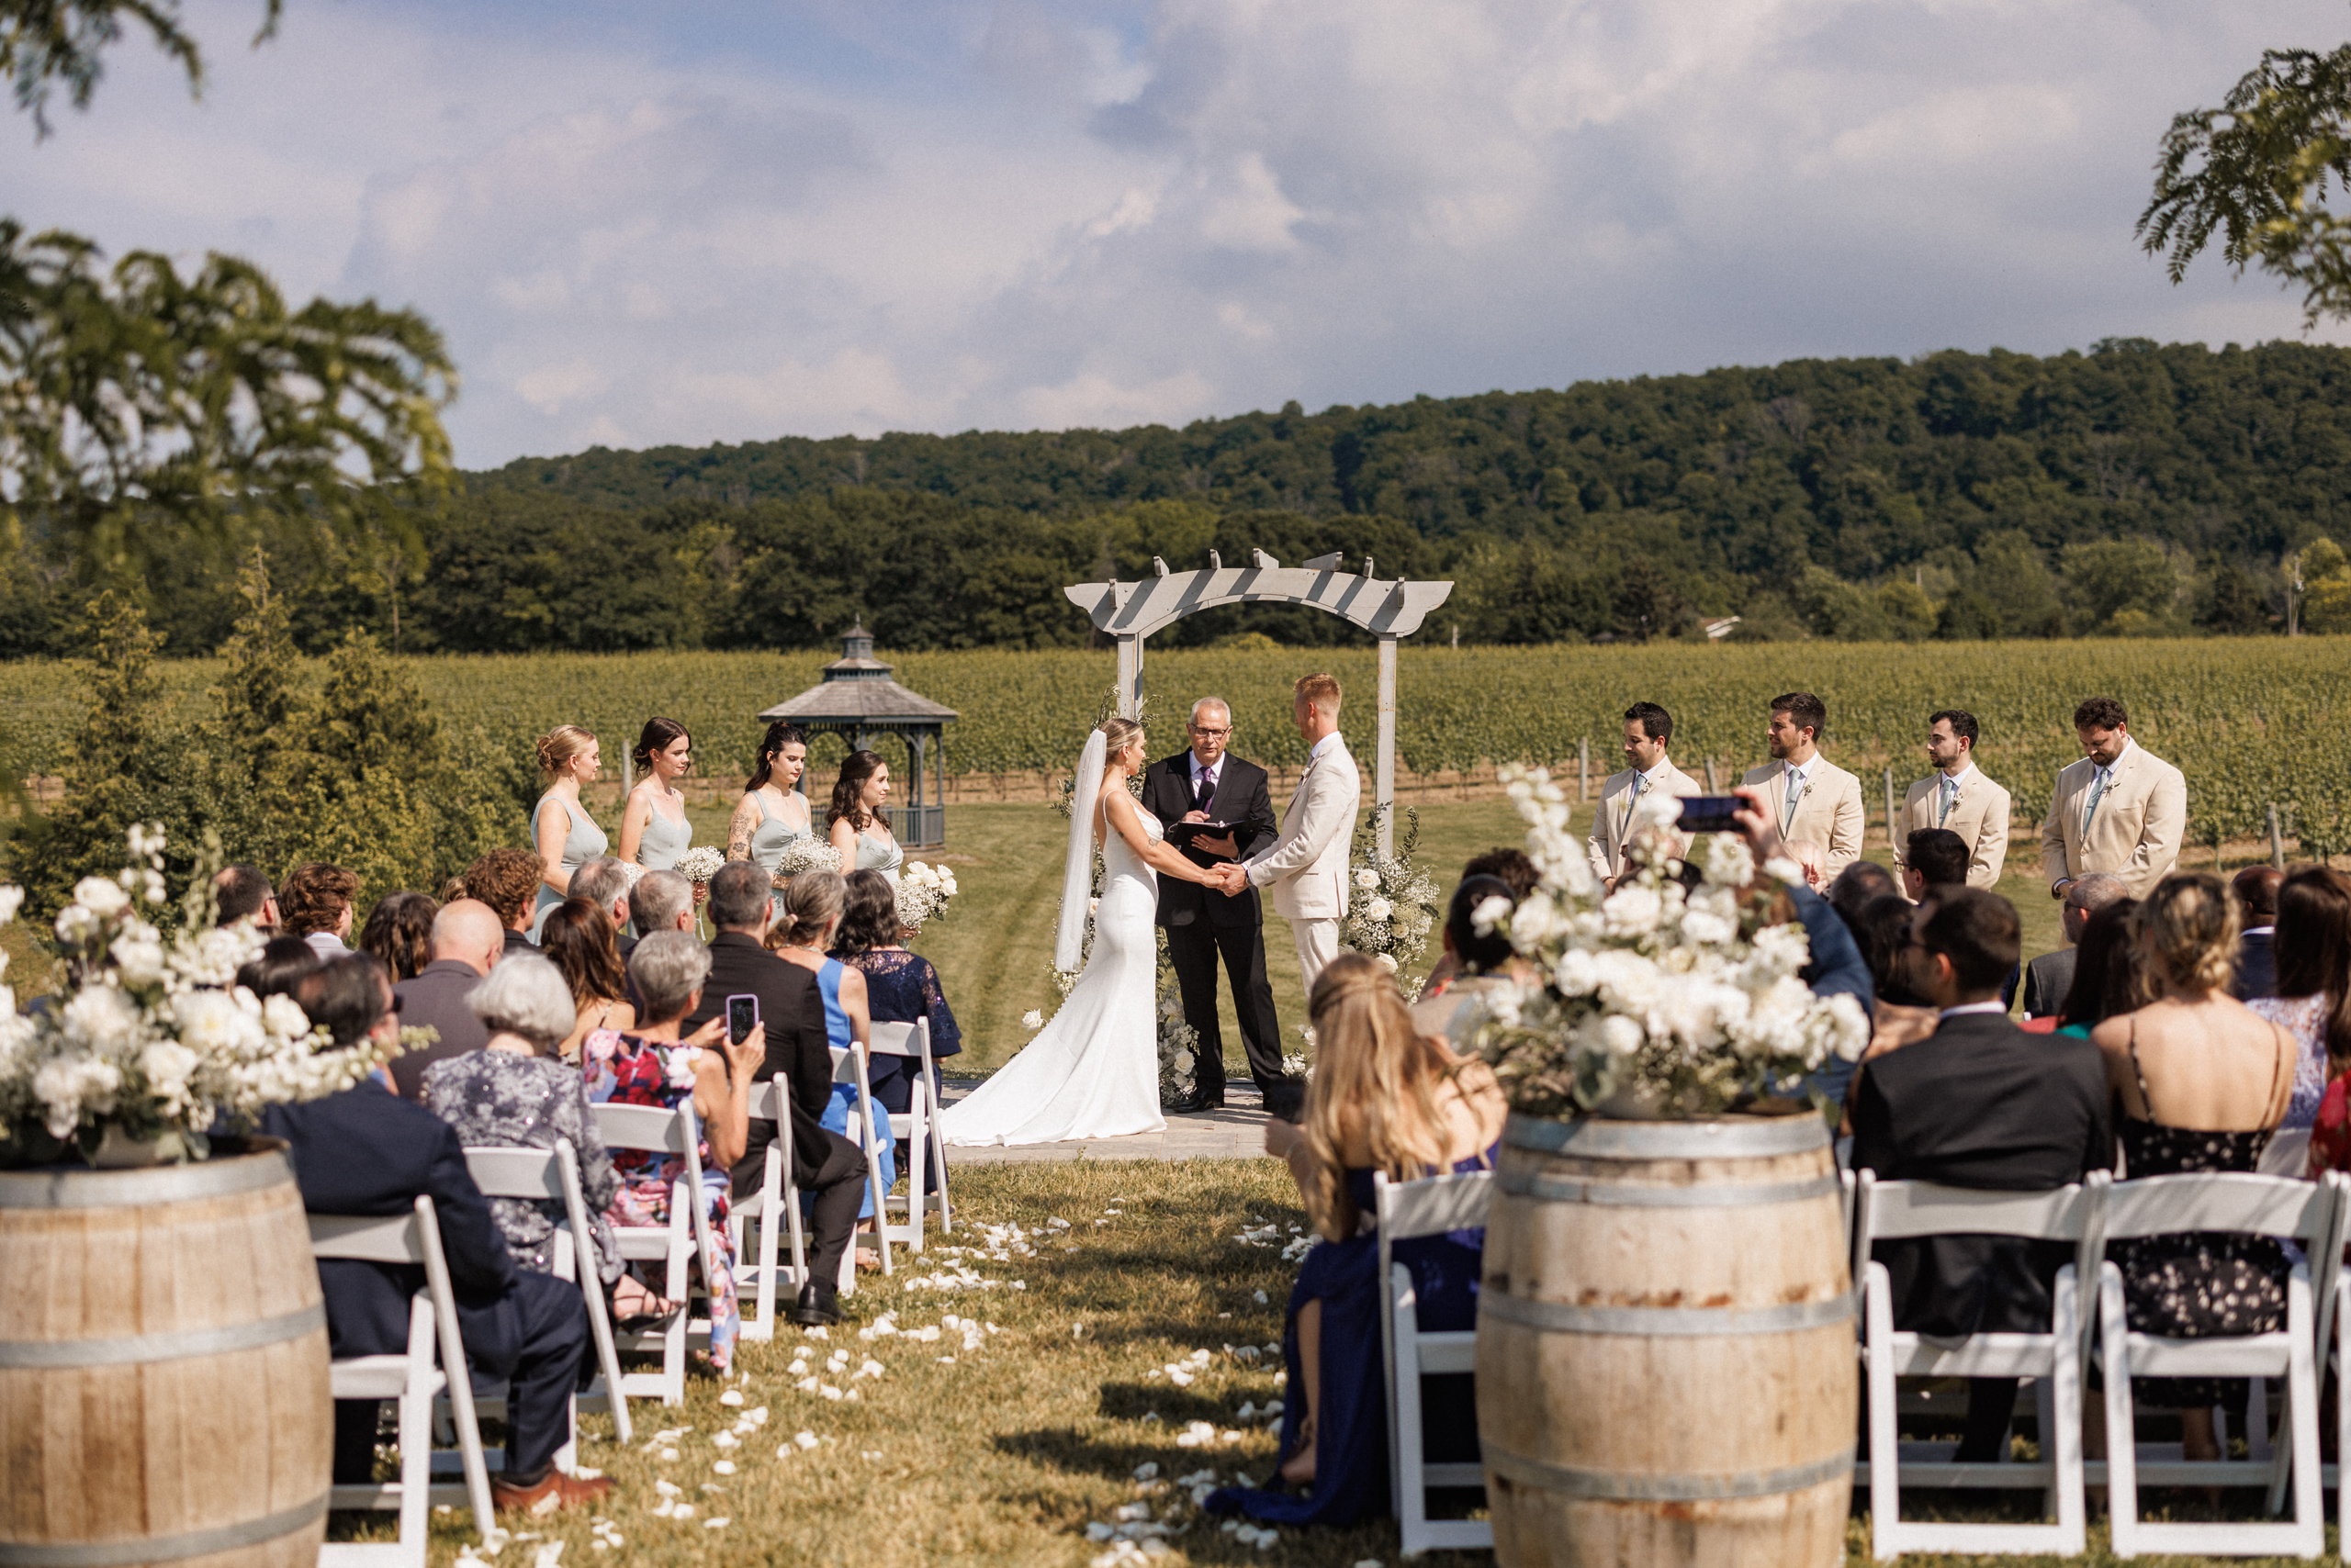
M334 1399L400 1403L400 1479L334 1486L327 1507L397 1512L400 1535L388 1542L327 1542L322 1568L423 1568L426 1509L463 1502L473 1526L491 1530L489 1465L482 1427L475 1425L473 1382L465 1375L465 1340L456 1331L456 1293L440 1244L440 1215L430 1197L418 1197L404 1215L310 1215L310 1255L320 1260L423 1265L426 1288L409 1300L409 1347L390 1356L343 1356L329 1366ZM435 1366L435 1347L440 1366ZM449 1368L449 1371L442 1371ZM433 1396L449 1389L463 1486L433 1486Z

